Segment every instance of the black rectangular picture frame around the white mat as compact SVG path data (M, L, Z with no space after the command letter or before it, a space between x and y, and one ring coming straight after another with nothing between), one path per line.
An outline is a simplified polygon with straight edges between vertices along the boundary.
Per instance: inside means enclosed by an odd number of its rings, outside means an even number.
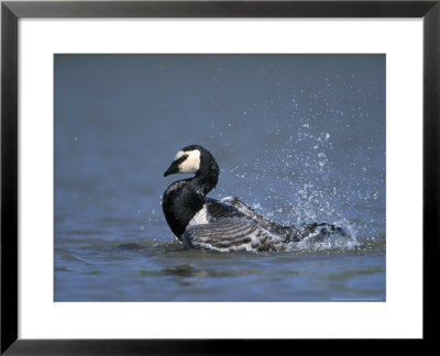
M18 21L20 18L422 18L424 341L433 340L439 260L440 0L433 1L2 1L1 354L254 354L292 341L18 338ZM411 169L408 167L408 169ZM433 282L435 281L435 282Z

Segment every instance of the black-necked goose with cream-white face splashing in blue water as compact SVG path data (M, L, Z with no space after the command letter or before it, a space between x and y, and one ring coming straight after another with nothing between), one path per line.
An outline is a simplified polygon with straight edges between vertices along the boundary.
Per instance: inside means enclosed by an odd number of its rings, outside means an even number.
M200 145L189 145L177 153L164 177L173 174L195 174L168 186L162 202L170 230L186 247L217 252L282 251L287 243L306 237L346 236L341 227L327 223L280 225L234 197L207 198L217 186L219 165Z

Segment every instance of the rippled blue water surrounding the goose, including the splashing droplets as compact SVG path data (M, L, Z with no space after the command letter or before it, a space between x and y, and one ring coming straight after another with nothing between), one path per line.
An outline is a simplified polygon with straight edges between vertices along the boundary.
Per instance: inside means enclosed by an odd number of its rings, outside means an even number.
M356 244L185 249L163 173L194 143L210 197ZM384 301L385 178L382 55L56 55L54 299Z

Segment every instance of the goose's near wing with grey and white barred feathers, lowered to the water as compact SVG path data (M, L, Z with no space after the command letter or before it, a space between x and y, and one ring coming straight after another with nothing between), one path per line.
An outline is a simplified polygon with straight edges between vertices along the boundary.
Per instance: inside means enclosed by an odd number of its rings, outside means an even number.
M188 226L182 236L188 247L228 251L276 249L279 238L246 216L220 218L209 224Z

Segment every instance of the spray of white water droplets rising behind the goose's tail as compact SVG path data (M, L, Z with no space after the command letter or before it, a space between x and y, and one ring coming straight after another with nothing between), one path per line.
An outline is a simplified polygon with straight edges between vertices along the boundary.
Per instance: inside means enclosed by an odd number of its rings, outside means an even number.
M319 94L310 96L311 101L316 103ZM317 123L317 116L322 113L314 105L305 110L301 108L301 101L294 98L290 109L290 120L297 123L296 134L290 134L282 144L277 142L277 147L265 149L264 156L257 159L253 167L257 173L253 177L260 183L271 181L270 187L265 187L264 201L255 201L253 208L284 225L327 222L342 227L350 235L329 236L319 242L306 238L300 243L292 243L289 249L358 248L361 244L356 235L361 226L345 215L348 208L352 208L350 204L353 199L348 194L346 181L333 167L332 156L336 153L332 132L323 131L322 125ZM304 114L305 112L308 114ZM326 120L331 122L333 118ZM273 130L277 132L278 127ZM365 173L366 168L363 171ZM254 188L252 185L249 187ZM360 190L352 192L358 196L360 193ZM374 193L371 196L374 197ZM344 209L341 209L341 204Z

